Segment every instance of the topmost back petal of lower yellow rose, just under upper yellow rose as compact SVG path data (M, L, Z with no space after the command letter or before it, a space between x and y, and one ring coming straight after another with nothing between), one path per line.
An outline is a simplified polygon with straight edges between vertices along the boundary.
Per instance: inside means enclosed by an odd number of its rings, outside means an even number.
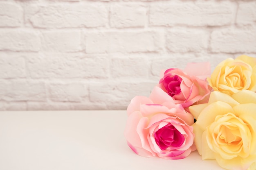
M226 102L229 105L231 105L231 107L234 107L235 105L239 104L239 102L237 102L236 100L234 100L234 98L232 98L227 94L220 93L220 92L211 92L209 103L213 103L217 101Z

